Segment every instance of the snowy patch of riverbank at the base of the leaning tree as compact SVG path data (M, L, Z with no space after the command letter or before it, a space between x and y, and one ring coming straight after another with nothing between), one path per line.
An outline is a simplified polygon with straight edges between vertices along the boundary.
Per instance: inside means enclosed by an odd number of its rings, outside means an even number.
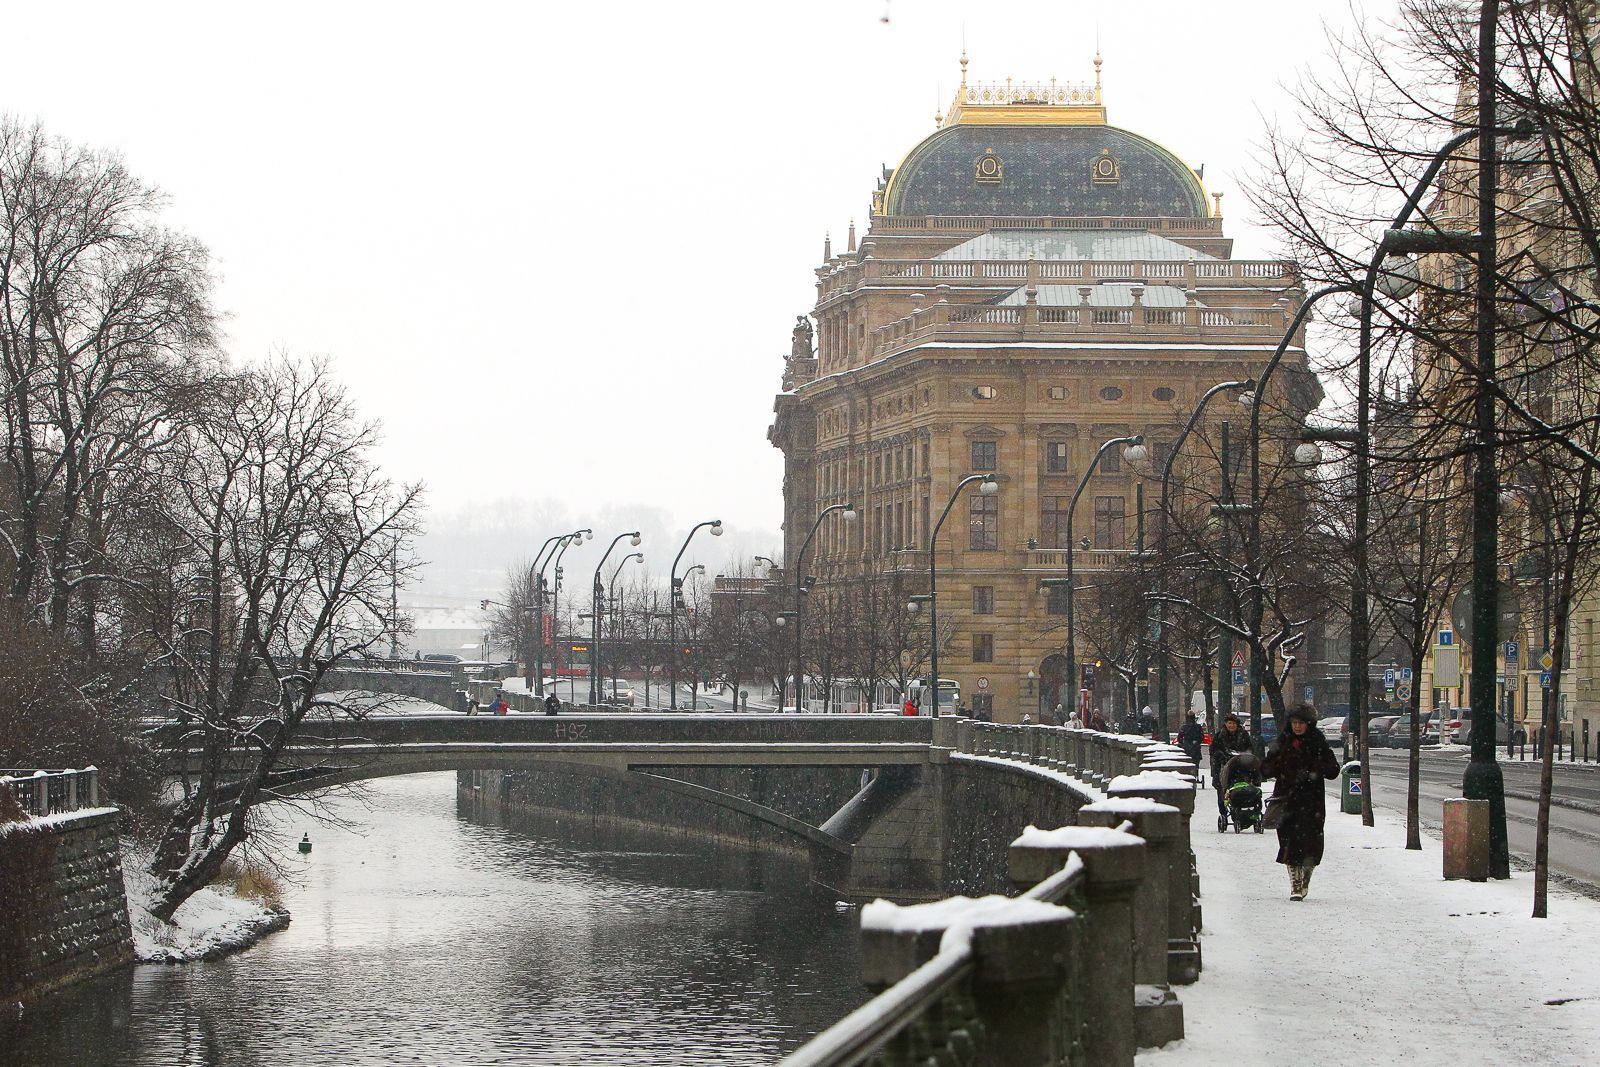
M126 849L122 856L133 955L141 963L211 960L288 926L288 912L234 896L226 886L200 889L182 902L171 923L163 923L147 910L155 883L146 873L144 859Z

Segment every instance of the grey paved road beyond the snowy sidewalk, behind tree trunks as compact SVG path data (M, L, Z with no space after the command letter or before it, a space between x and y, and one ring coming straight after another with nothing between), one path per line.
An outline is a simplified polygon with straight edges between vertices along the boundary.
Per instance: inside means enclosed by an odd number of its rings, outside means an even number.
M1464 752L1424 752L1419 781L1419 811L1424 825L1438 827L1443 801L1461 795ZM1510 760L1501 763L1506 777L1506 835L1512 859L1533 864L1533 832L1539 789L1539 765ZM1405 809L1406 761L1398 750L1373 752L1373 801ZM1600 766L1582 763L1557 766L1550 808L1550 870L1600 894ZM1352 817L1352 816L1344 816Z

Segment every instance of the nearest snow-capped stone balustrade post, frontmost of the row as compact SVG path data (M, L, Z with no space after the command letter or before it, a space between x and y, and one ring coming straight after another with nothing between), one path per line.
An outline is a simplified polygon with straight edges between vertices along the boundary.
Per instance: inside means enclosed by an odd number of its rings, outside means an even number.
M952 1045L965 1043L974 1053L971 1062L1058 1062L1054 1049L1074 1037L1062 1032L1074 1013L1061 1008L1070 995L1077 925L1070 909L1002 896L907 907L874 901L861 910L861 979L882 992L931 960L949 944L946 934L970 936L973 995L970 1003L955 998L954 1005L968 1017L944 1019L947 1035L918 1035L934 1038L934 1046L931 1057L917 1062L944 1062L939 1046L946 1037Z

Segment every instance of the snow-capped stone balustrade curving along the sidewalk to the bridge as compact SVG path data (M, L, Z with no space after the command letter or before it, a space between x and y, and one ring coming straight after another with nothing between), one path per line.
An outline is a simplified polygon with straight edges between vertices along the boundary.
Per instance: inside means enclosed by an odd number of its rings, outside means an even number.
M782 1067L1131 1067L1182 1037L1174 982L1198 976L1192 766L1171 745L1061 726L958 720L955 750L1104 790L1077 825L1010 848L1019 897L947 897L861 915L875 995Z

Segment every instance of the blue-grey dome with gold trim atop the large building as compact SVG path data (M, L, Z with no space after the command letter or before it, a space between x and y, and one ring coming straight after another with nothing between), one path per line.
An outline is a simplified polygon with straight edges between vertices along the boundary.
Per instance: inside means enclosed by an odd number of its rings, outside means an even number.
M890 216L1208 218L1176 155L1106 123L1094 85L966 85L874 198Z

